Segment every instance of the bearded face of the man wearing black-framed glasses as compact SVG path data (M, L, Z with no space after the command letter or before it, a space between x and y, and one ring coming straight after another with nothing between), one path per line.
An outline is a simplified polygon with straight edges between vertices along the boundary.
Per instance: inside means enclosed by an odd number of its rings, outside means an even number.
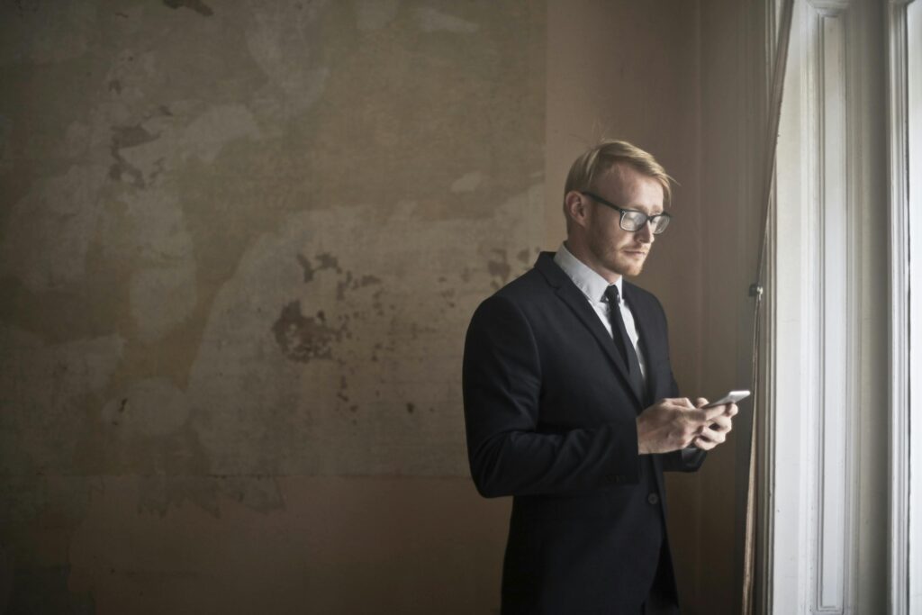
M618 207L637 209L648 216L663 212L663 186L630 166L616 164L598 179L593 188L592 192ZM654 242L650 224L644 224L640 231L624 231L618 210L597 203L588 196L583 198L589 201L585 240L590 258L595 261L590 266L606 278L612 274L640 274Z

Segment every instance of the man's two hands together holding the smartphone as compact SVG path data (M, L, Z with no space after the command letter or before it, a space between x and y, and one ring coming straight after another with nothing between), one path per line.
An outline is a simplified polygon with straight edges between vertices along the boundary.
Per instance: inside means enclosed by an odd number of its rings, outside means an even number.
M637 417L637 447L641 455L671 453L688 446L709 451L727 440L736 404L703 408L699 397L692 405L686 397L660 399Z

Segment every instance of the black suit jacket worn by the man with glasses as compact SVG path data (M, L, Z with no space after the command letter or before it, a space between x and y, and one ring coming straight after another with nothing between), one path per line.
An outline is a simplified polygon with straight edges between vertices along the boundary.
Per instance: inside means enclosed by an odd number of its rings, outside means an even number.
M678 396L666 317L623 284L640 331L649 391L585 295L553 262L481 303L467 331L464 408L471 474L485 497L512 495L503 613L634 613L656 576L675 597L662 472L703 452L638 455L637 415Z

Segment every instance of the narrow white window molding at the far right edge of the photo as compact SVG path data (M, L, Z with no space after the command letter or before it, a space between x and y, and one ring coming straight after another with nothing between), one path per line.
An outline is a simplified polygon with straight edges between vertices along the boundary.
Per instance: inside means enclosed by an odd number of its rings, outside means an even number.
M911 290L922 289L922 3L892 0L887 6L888 171L890 211L890 383L891 485L888 519L887 602L892 615L922 610L922 430L911 431L920 416L922 394L922 310ZM910 80L912 79L912 80ZM915 162L916 172L910 172ZM912 326L915 324L916 326ZM917 423L916 423L917 424Z

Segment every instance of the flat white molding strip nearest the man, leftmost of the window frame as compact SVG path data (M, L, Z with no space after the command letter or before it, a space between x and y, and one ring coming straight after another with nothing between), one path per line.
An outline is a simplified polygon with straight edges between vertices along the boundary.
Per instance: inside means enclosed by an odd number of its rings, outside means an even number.
M814 545L810 540L808 515L802 514L810 499L810 461L815 448L810 442L810 417L815 405L810 396L812 365L800 358L811 358L810 333L816 327L809 321L811 289L806 273L813 262L809 253L812 217L811 167L812 136L802 125L810 101L809 57L806 9L796 3L791 24L785 97L782 101L778 136L778 167L775 178L775 203L771 238L772 258L767 263L769 292L766 390L771 391L767 408L765 507L765 558L770 562L770 578L765 613L799 615L808 608L809 563ZM784 283L782 283L784 282ZM805 305L805 303L808 303ZM787 358L798 358L795 361Z

